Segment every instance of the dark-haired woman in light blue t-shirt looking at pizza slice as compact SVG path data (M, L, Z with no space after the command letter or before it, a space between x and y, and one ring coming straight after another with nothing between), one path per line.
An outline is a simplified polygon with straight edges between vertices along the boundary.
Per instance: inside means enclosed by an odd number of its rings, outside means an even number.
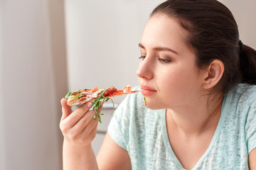
M97 159L91 103L70 114L62 99L64 169L256 169L256 52L228 8L165 1L139 49L143 96L117 108Z

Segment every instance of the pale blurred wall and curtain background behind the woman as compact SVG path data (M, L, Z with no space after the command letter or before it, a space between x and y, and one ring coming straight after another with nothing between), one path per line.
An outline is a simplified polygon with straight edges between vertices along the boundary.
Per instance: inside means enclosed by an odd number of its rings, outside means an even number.
M161 2L0 0L1 170L62 169L60 99L95 85L137 86L138 43ZM221 2L242 42L256 48L256 1ZM96 153L111 118L109 108L102 112Z

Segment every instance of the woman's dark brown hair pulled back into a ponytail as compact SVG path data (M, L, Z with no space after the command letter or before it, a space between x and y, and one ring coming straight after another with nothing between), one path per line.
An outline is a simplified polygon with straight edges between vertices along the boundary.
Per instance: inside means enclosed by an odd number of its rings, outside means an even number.
M213 60L225 71L213 91L227 91L238 83L256 84L256 51L239 42L238 26L230 10L216 0L169 0L156 6L151 16L177 18L188 30L188 47L196 54L198 68Z

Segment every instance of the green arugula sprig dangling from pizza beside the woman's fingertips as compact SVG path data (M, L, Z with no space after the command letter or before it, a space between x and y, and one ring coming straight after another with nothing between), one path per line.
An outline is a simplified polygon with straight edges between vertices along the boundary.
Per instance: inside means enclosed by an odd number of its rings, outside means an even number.
M109 89L109 88L107 88ZM92 104L92 108L90 108L90 111L95 110L95 115L93 116L93 120L95 120L95 118L97 117L99 122L102 123L100 115L104 115L103 113L97 113L97 111L102 107L102 104L108 100L112 101L111 98L105 97L103 96L103 94L105 94L105 92L107 91L107 89L105 89L105 91L102 91L102 93L100 94L100 96L98 96ZM112 113L114 112L114 101L112 101L113 103L113 110ZM111 113L111 114L112 114Z

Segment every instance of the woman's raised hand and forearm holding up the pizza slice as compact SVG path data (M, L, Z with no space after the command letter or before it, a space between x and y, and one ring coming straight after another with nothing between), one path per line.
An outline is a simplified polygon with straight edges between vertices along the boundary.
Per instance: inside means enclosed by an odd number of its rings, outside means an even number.
M95 138L98 119L92 120L95 111L90 111L91 102L75 109L67 105L65 98L60 101L63 115L60 130L63 132L63 169L98 169L91 142ZM100 112L100 110L99 110Z

